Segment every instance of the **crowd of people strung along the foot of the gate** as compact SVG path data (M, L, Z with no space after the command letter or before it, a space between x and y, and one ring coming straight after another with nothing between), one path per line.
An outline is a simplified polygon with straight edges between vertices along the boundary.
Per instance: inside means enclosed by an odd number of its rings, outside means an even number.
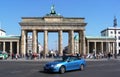
M63 53L63 56L64 54L66 53ZM111 57L114 57L114 58L117 58L118 55L116 54L112 54L110 52L108 53L98 53L98 54L95 54L95 53L89 53L87 55L81 55L81 54L78 54L76 53L76 55L80 55L86 59L102 59L102 58L108 58L110 59ZM43 53L32 53L32 52L29 52L29 53L26 53L25 55L20 55L20 54L14 54L12 53L11 55L9 55L9 57L11 57L11 59L19 59L19 58L25 58L27 60L33 60L33 59L41 59L41 58L59 58L60 55L58 53L55 53L55 52L49 52L47 55L43 55Z

